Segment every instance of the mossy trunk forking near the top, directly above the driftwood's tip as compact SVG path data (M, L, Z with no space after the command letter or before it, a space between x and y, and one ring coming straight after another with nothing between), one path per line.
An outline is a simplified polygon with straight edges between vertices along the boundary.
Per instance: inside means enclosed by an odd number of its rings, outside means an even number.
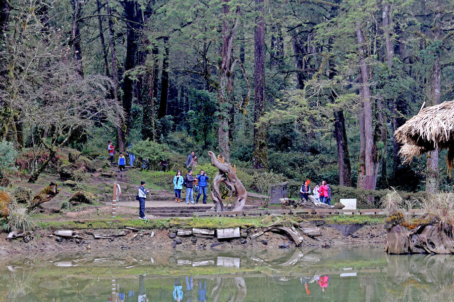
M238 26L239 9L232 29L227 15L230 12L229 0L222 0L222 48L221 65L219 69L219 87L217 100L219 106L219 126L217 130L217 140L219 154L227 163L230 162L230 139L229 139L229 117L230 101L232 100L233 87L231 86L232 47L235 32Z

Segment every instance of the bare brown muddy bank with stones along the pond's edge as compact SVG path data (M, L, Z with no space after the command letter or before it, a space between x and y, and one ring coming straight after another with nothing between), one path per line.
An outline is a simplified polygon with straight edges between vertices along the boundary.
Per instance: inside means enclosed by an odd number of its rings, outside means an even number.
M265 228L263 228L264 230ZM36 254L48 252L119 252L119 251L228 251L244 249L288 249L296 247L286 234L268 232L252 239L261 228L247 230L247 238L218 240L217 238L181 237L171 238L178 229L146 230L133 232L126 229L84 229L77 230L82 238L60 238L53 231L36 230L34 238L24 242L21 238L6 241L6 234L0 238L0 257L11 254ZM126 236L113 239L94 239L93 234L115 235L122 232ZM151 237L153 233L153 237ZM245 232L242 232L245 233ZM386 244L386 232L380 224L329 224L320 226L319 237L305 237L302 248L342 248L342 247L380 247ZM173 237L173 236L172 236Z

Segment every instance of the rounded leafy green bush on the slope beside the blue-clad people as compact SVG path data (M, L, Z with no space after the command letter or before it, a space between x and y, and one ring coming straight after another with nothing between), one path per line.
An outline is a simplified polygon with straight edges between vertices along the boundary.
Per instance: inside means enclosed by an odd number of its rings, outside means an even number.
M160 144L150 140L136 142L132 146L132 153L136 156L135 165L147 163L146 169L160 170L162 161L168 160L170 153L166 144ZM167 163L169 164L169 163Z

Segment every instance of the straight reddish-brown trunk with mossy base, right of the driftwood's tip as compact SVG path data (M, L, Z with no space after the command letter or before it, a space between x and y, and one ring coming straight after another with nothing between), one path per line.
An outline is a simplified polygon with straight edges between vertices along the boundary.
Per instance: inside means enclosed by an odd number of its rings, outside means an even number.
M257 13L255 25L254 74L255 74L255 106L254 106L254 152L252 164L255 169L268 169L268 142L266 127L257 126L266 107L265 99L265 23L263 0L255 0Z

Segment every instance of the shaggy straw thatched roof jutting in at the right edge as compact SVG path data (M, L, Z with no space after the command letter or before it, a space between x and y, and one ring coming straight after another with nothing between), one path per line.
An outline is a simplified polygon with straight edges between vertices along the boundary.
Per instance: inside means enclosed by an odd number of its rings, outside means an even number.
M436 148L447 148L450 175L454 160L454 101L421 109L394 132L394 138L404 144L399 151L404 162Z

